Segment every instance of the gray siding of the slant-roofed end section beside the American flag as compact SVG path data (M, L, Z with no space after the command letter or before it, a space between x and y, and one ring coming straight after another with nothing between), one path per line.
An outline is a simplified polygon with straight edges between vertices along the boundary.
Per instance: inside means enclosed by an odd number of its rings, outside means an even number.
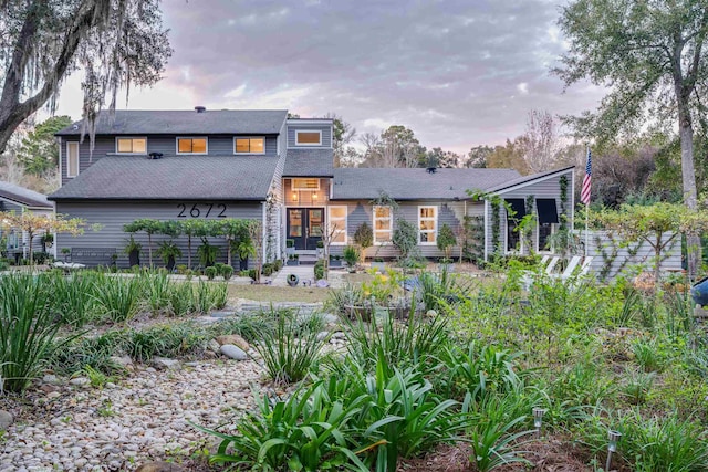
M508 198L520 198L525 201L528 196L533 196L534 198L553 198L555 199L555 207L558 208L559 213L561 212L561 187L560 180L561 176L568 176L568 201L565 202L565 214L568 216L568 224L569 227L572 224L572 212L573 212L573 190L572 190L572 179L573 179L573 170L569 169L568 171L548 178L545 180L530 182L521 188L512 189L509 191L504 191L499 193L499 196L503 199ZM483 211L483 210L482 210ZM491 204L489 206L489 214L487 216L486 229L487 229L487 256L491 256L494 252L494 248L492 248L492 218L491 218ZM533 211L535 212L535 203L533 206ZM507 248L507 211L501 208L500 209L500 224L499 224L499 241L501 244L502 251ZM560 214L559 214L560 218ZM533 251L537 251L538 245L538 231L534 228L531 234L531 241L533 242ZM524 253L529 253L529 248L524 248Z

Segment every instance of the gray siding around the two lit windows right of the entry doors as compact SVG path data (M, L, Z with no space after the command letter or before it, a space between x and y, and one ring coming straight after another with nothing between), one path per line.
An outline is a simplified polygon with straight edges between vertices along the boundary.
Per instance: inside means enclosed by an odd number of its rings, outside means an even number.
M368 223L372 229L374 228L373 206L369 201L343 201L332 202L332 206L346 206L347 207L347 220L346 220L346 234L347 243L354 242L354 233L357 228L363 223ZM457 232L461 229L462 218L465 216L465 202L462 201L406 201L398 203L398 212L394 213L394 230L396 228L396 220L403 218L404 220L413 223L416 228L418 225L418 207L437 207L437 229L438 231L442 224L449 225L452 231ZM436 244L419 244L418 249L420 254L425 258L442 258L445 253L438 249ZM342 254L342 245L333 245L331 248L332 254ZM452 256L459 256L459 247L455 247L451 251ZM398 250L393 244L374 245L366 250L367 258L395 258L398 255Z

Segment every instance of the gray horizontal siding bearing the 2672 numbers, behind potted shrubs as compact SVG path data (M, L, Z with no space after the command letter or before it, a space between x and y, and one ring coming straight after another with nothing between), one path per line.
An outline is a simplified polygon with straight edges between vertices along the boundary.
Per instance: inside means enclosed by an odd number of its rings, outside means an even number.
M199 203L196 201L185 201L190 208L191 204ZM218 202L214 202L218 203ZM228 218L243 218L243 219L257 219L262 218L262 206L260 202L238 202L238 201L225 201L227 206L225 216ZM180 209L177 207L178 202L58 202L56 211L59 213L66 214L69 218L82 218L86 220L88 224L100 224L98 231L86 230L82 235L72 237L71 234L58 234L55 238L56 254L61 258L62 248L102 248L102 249L115 249L118 254L118 266L126 268L128 265L127 255L124 253L125 242L129 234L123 231L123 225L129 223L139 218L152 218L157 220L181 220L178 218ZM216 207L216 206L215 206ZM202 203L204 208L204 203ZM218 211L211 212L209 219L217 219ZM143 244L140 252L140 263L146 265L148 263L147 255L147 235L145 233L136 233L135 239ZM156 253L156 249L160 241L165 241L168 238L157 234L153 235L153 263L155 266L162 266L163 261ZM183 258L177 263L187 263L187 238L179 237L176 240L177 244L183 251ZM220 238L211 239L212 244L217 244L219 254L217 262L226 262L227 251L226 241ZM192 266L199 264L197 258L197 248L199 247L199 238L192 238L191 252L192 252ZM238 258L235 258L233 264ZM79 261L75 261L79 262Z

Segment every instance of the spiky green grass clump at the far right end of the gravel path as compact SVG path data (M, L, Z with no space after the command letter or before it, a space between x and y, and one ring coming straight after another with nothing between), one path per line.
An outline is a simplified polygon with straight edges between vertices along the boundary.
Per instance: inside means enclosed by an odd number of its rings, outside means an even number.
M316 366L324 339L317 333L304 333L298 338L296 317L289 311L271 312L277 318L273 333L266 333L254 344L262 356L268 376L275 384L288 385L302 380Z

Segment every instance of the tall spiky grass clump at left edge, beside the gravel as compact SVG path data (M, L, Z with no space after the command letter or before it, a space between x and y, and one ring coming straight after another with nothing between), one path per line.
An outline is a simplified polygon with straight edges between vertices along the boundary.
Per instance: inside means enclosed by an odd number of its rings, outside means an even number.
M50 292L41 277L0 277L0 387L22 391L61 346L54 336L61 325L50 310Z

